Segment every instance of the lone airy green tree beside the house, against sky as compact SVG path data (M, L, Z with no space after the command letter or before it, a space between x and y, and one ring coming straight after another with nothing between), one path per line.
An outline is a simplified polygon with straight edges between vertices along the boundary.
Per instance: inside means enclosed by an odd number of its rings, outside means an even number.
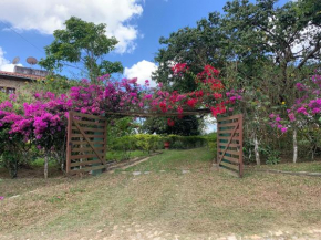
M54 41L45 46L46 58L39 64L48 70L62 69L64 62L82 63L90 79L106 73L122 73L121 62L105 60L105 54L115 49L117 40L106 36L106 24L94 24L71 17L65 21L64 30L55 30Z

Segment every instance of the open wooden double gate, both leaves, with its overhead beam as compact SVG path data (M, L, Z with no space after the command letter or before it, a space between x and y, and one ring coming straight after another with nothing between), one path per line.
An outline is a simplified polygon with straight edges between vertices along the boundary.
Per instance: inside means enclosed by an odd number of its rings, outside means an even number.
M154 113L141 112L105 112L105 116L133 117L170 117L206 115L211 111L201 108L177 112ZM107 169L105 160L107 118L76 112L70 112L68 123L66 174L79 174L99 169ZM217 119L217 163L218 168L242 176L242 115L218 117Z

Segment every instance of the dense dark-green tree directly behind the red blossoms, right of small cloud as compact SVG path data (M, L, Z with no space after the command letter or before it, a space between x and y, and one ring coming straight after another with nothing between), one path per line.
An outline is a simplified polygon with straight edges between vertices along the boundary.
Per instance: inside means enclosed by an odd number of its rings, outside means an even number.
M220 45L225 39L220 22L220 14L214 12L209 14L208 20L197 22L196 28L186 27L170 33L167 39L161 38L159 43L164 46L155 56L159 67L153 79L170 86L172 90L194 91L196 88L194 76L185 76L184 81L173 77L172 66L175 63L187 63L189 72L194 74L201 72L207 64L222 66L226 52Z

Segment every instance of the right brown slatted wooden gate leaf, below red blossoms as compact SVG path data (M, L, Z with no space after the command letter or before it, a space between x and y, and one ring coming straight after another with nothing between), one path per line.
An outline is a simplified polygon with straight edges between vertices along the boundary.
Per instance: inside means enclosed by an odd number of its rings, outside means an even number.
M242 115L217 119L217 167L242 177Z

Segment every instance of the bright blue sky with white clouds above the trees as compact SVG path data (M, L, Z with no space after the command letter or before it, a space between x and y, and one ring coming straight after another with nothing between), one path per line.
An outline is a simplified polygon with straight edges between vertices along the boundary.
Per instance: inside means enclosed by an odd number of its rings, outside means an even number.
M20 0L0 1L0 70L11 71L8 65L14 56L20 63L28 56L44 58L43 48L53 41L52 31L61 28L71 15L85 21L107 24L108 34L121 43L107 55L127 67L125 74L147 77L156 66L152 63L161 48L161 36L184 27L195 27L209 12L222 11L225 0ZM286 0L279 3L284 3ZM75 7L77 6L77 7ZM142 62L144 61L144 62ZM135 66L136 69L133 66ZM138 64L138 65L137 65ZM76 70L70 69L70 75ZM142 79L142 81L143 81Z

